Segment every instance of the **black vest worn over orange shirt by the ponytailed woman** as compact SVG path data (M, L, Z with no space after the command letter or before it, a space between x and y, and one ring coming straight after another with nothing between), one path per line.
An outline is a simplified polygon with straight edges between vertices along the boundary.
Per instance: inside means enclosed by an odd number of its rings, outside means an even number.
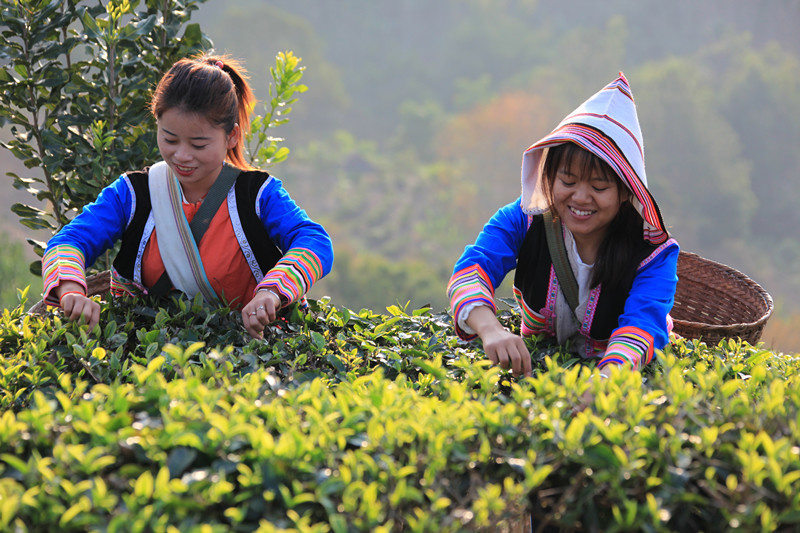
M133 187L136 209L133 217L122 233L119 252L114 258L114 268L124 278L133 280L136 255L144 235L147 219L152 211L150 203L150 186L148 168L137 172L128 172L126 176ZM261 186L269 179L266 172L252 170L242 171L236 178L234 192L236 194L236 207L242 231L253 251L253 255L261 268L267 273L283 257L280 249L270 239L264 224L258 218L255 210L256 198ZM224 205L221 209L227 209ZM257 280L261 281L261 280Z

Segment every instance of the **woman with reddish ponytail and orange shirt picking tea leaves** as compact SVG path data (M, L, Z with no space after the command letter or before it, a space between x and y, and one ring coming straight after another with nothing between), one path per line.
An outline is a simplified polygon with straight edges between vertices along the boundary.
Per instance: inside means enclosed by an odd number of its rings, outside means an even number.
M176 62L151 102L163 161L122 174L50 239L45 301L97 324L85 269L121 241L114 295L200 293L241 309L256 338L281 309L303 305L330 271L333 248L280 180L245 160L254 105L236 61L204 54Z

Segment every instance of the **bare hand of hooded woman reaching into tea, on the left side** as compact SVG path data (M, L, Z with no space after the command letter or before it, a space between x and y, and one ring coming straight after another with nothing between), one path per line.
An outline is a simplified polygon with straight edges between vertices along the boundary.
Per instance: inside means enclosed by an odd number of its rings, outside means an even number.
M476 307L470 312L467 324L481 338L483 350L491 362L511 368L517 376L531 375L531 354L525 341L504 328L491 308Z

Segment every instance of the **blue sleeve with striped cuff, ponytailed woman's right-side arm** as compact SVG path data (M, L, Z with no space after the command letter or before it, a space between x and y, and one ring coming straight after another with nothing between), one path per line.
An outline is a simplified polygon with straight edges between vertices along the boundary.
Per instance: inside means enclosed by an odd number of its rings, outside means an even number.
M280 180L270 179L257 199L259 218L283 257L258 285L275 290L285 305L301 300L333 266L333 244L325 229L292 200Z

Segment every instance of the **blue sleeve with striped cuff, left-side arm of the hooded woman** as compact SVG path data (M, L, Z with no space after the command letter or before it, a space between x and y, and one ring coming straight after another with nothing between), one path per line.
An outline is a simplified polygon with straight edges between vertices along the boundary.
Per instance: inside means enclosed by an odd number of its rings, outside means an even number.
M456 262L447 295L456 333L462 339L476 337L461 324L472 309L485 305L496 310L495 288L516 268L527 228L527 216L522 212L520 200L515 200L489 219L475 243L467 246Z

